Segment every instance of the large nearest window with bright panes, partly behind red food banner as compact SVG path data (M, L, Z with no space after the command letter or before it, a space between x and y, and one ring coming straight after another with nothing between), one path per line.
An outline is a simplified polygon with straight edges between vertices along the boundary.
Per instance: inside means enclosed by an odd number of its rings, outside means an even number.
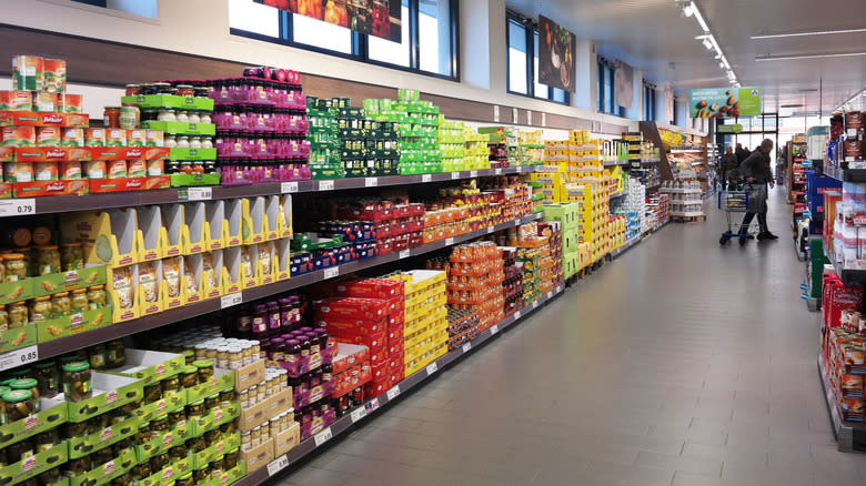
M229 0L229 28L233 36L457 80L459 0L392 1L401 1L401 42L283 12L254 0Z

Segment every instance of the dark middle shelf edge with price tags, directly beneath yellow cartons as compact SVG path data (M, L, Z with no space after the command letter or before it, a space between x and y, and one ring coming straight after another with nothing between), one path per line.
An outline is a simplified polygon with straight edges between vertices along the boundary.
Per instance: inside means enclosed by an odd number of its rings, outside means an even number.
M244 302L252 302L260 298L269 297L271 295L288 292L294 288L300 288L313 283L323 282L330 279L334 279L339 275L345 275L348 273L358 272L360 270L372 269L374 266L384 265L386 263L395 262L397 260L407 259L411 256L419 256L425 253L442 250L446 246L463 243L480 236L484 236L497 231L507 230L510 227L520 226L521 224L537 221L543 217L543 213L532 214L518 220L512 220L502 224L491 225L482 227L477 231L471 231L445 240L440 240L431 243L426 243L412 249L402 251L395 251L385 255L373 256L365 260L356 260L353 262L344 263L342 265L332 266L330 269L318 270L315 272L305 273L302 275L293 276L285 281L274 282L272 284L262 285L253 288L248 288L241 292L242 298L240 301L232 298L211 298L198 304L184 305L171 311L161 312L158 314L149 315L145 317L139 317L132 321L120 322L99 330L88 331L81 334L75 334L68 337L61 337L59 340L49 341L47 343L37 344L39 358L44 360L52 356L69 353L71 351L81 350L83 347L92 346L94 344L104 343L111 340L129 336L143 331L150 331L158 327L162 327L179 321L197 317L200 315L209 314L220 308L239 305ZM225 302L225 305L223 305ZM14 353L14 352L12 352ZM3 355L0 355L2 361Z

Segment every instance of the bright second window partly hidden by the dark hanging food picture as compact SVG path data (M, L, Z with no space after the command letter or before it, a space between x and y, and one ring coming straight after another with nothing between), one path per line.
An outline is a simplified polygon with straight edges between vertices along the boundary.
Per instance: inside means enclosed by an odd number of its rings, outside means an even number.
M568 104L568 92L538 82L538 31L528 21L508 14L507 91L512 94Z

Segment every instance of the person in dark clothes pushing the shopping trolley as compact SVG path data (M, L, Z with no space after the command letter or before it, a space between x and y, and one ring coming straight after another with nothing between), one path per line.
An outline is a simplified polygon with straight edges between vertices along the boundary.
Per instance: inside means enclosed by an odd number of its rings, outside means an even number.
M769 232L767 227L767 184L775 188L773 172L769 170L769 153L773 151L773 141L764 139L754 152L739 164L739 173L746 180L746 191L754 198L748 204L748 211L739 226L742 234L748 233L748 225L757 214L761 232L758 240L778 240L778 236ZM746 239L739 239L739 244L745 245Z

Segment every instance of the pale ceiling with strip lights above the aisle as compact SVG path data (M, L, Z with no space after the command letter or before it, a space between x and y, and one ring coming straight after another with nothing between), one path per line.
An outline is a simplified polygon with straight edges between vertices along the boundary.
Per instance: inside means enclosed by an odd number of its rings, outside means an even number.
M866 55L755 60L756 55L864 52L866 32L751 39L758 34L864 29L864 0L695 3L739 82L764 90L765 112L826 114L866 88ZM506 0L506 4L530 18L550 17L578 39L595 41L601 55L643 70L644 78L656 85L673 85L677 97L686 97L689 89L728 85L713 51L695 40L703 33L701 27L694 18L682 17L674 0Z

